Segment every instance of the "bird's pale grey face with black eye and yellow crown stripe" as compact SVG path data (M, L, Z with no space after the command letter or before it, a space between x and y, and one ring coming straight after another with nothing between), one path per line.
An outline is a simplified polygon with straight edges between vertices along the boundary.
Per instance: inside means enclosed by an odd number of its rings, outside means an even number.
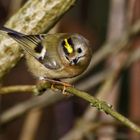
M62 40L63 55L70 65L77 65L86 59L88 51L88 41L78 34L72 34L70 37Z

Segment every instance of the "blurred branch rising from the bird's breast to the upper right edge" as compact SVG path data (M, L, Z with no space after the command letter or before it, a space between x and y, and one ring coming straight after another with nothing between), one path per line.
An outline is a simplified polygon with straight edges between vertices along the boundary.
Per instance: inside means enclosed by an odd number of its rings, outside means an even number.
M104 44L101 47L101 49L93 55L91 65L87 73L110 55L114 55L123 50L128 45L132 37L139 33L140 33L140 20L137 21L133 26L131 26L129 30L127 30L116 41L107 42L106 44Z

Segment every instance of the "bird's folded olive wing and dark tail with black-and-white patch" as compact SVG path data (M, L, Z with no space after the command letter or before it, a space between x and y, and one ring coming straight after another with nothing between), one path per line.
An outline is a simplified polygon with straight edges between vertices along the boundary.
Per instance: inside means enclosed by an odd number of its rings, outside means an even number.
M32 55L46 68L60 68L58 63L54 62L54 60L51 60L49 52L47 52L46 47L42 45L42 40L45 39L46 36L45 34L25 35L6 27L3 27L1 30L6 31L11 38L20 44L23 50Z

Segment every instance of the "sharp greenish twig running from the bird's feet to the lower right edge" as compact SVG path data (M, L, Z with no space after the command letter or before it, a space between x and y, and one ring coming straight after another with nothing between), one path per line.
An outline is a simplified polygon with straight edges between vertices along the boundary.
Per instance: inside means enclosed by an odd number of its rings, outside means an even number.
M61 86L56 86L56 87L61 90L63 89L63 87L61 87ZM105 101L98 100L98 99L94 98L93 96L89 95L88 93L79 91L72 87L68 87L66 89L66 91L88 101L91 104L91 106L96 107L99 111L103 111L106 114L111 115L115 119L122 122L124 125L128 126L129 128L133 129L134 131L140 133L140 128L138 126L136 126L134 123L130 122L127 118L125 118L121 114L114 111L112 109L111 105L107 104Z

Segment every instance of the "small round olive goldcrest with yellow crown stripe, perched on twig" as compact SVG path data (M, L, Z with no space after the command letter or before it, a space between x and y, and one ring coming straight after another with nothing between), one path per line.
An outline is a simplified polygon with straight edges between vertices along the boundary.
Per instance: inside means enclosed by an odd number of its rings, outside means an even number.
M25 35L3 27L25 51L29 70L43 79L63 79L80 75L90 63L89 42L76 33Z

